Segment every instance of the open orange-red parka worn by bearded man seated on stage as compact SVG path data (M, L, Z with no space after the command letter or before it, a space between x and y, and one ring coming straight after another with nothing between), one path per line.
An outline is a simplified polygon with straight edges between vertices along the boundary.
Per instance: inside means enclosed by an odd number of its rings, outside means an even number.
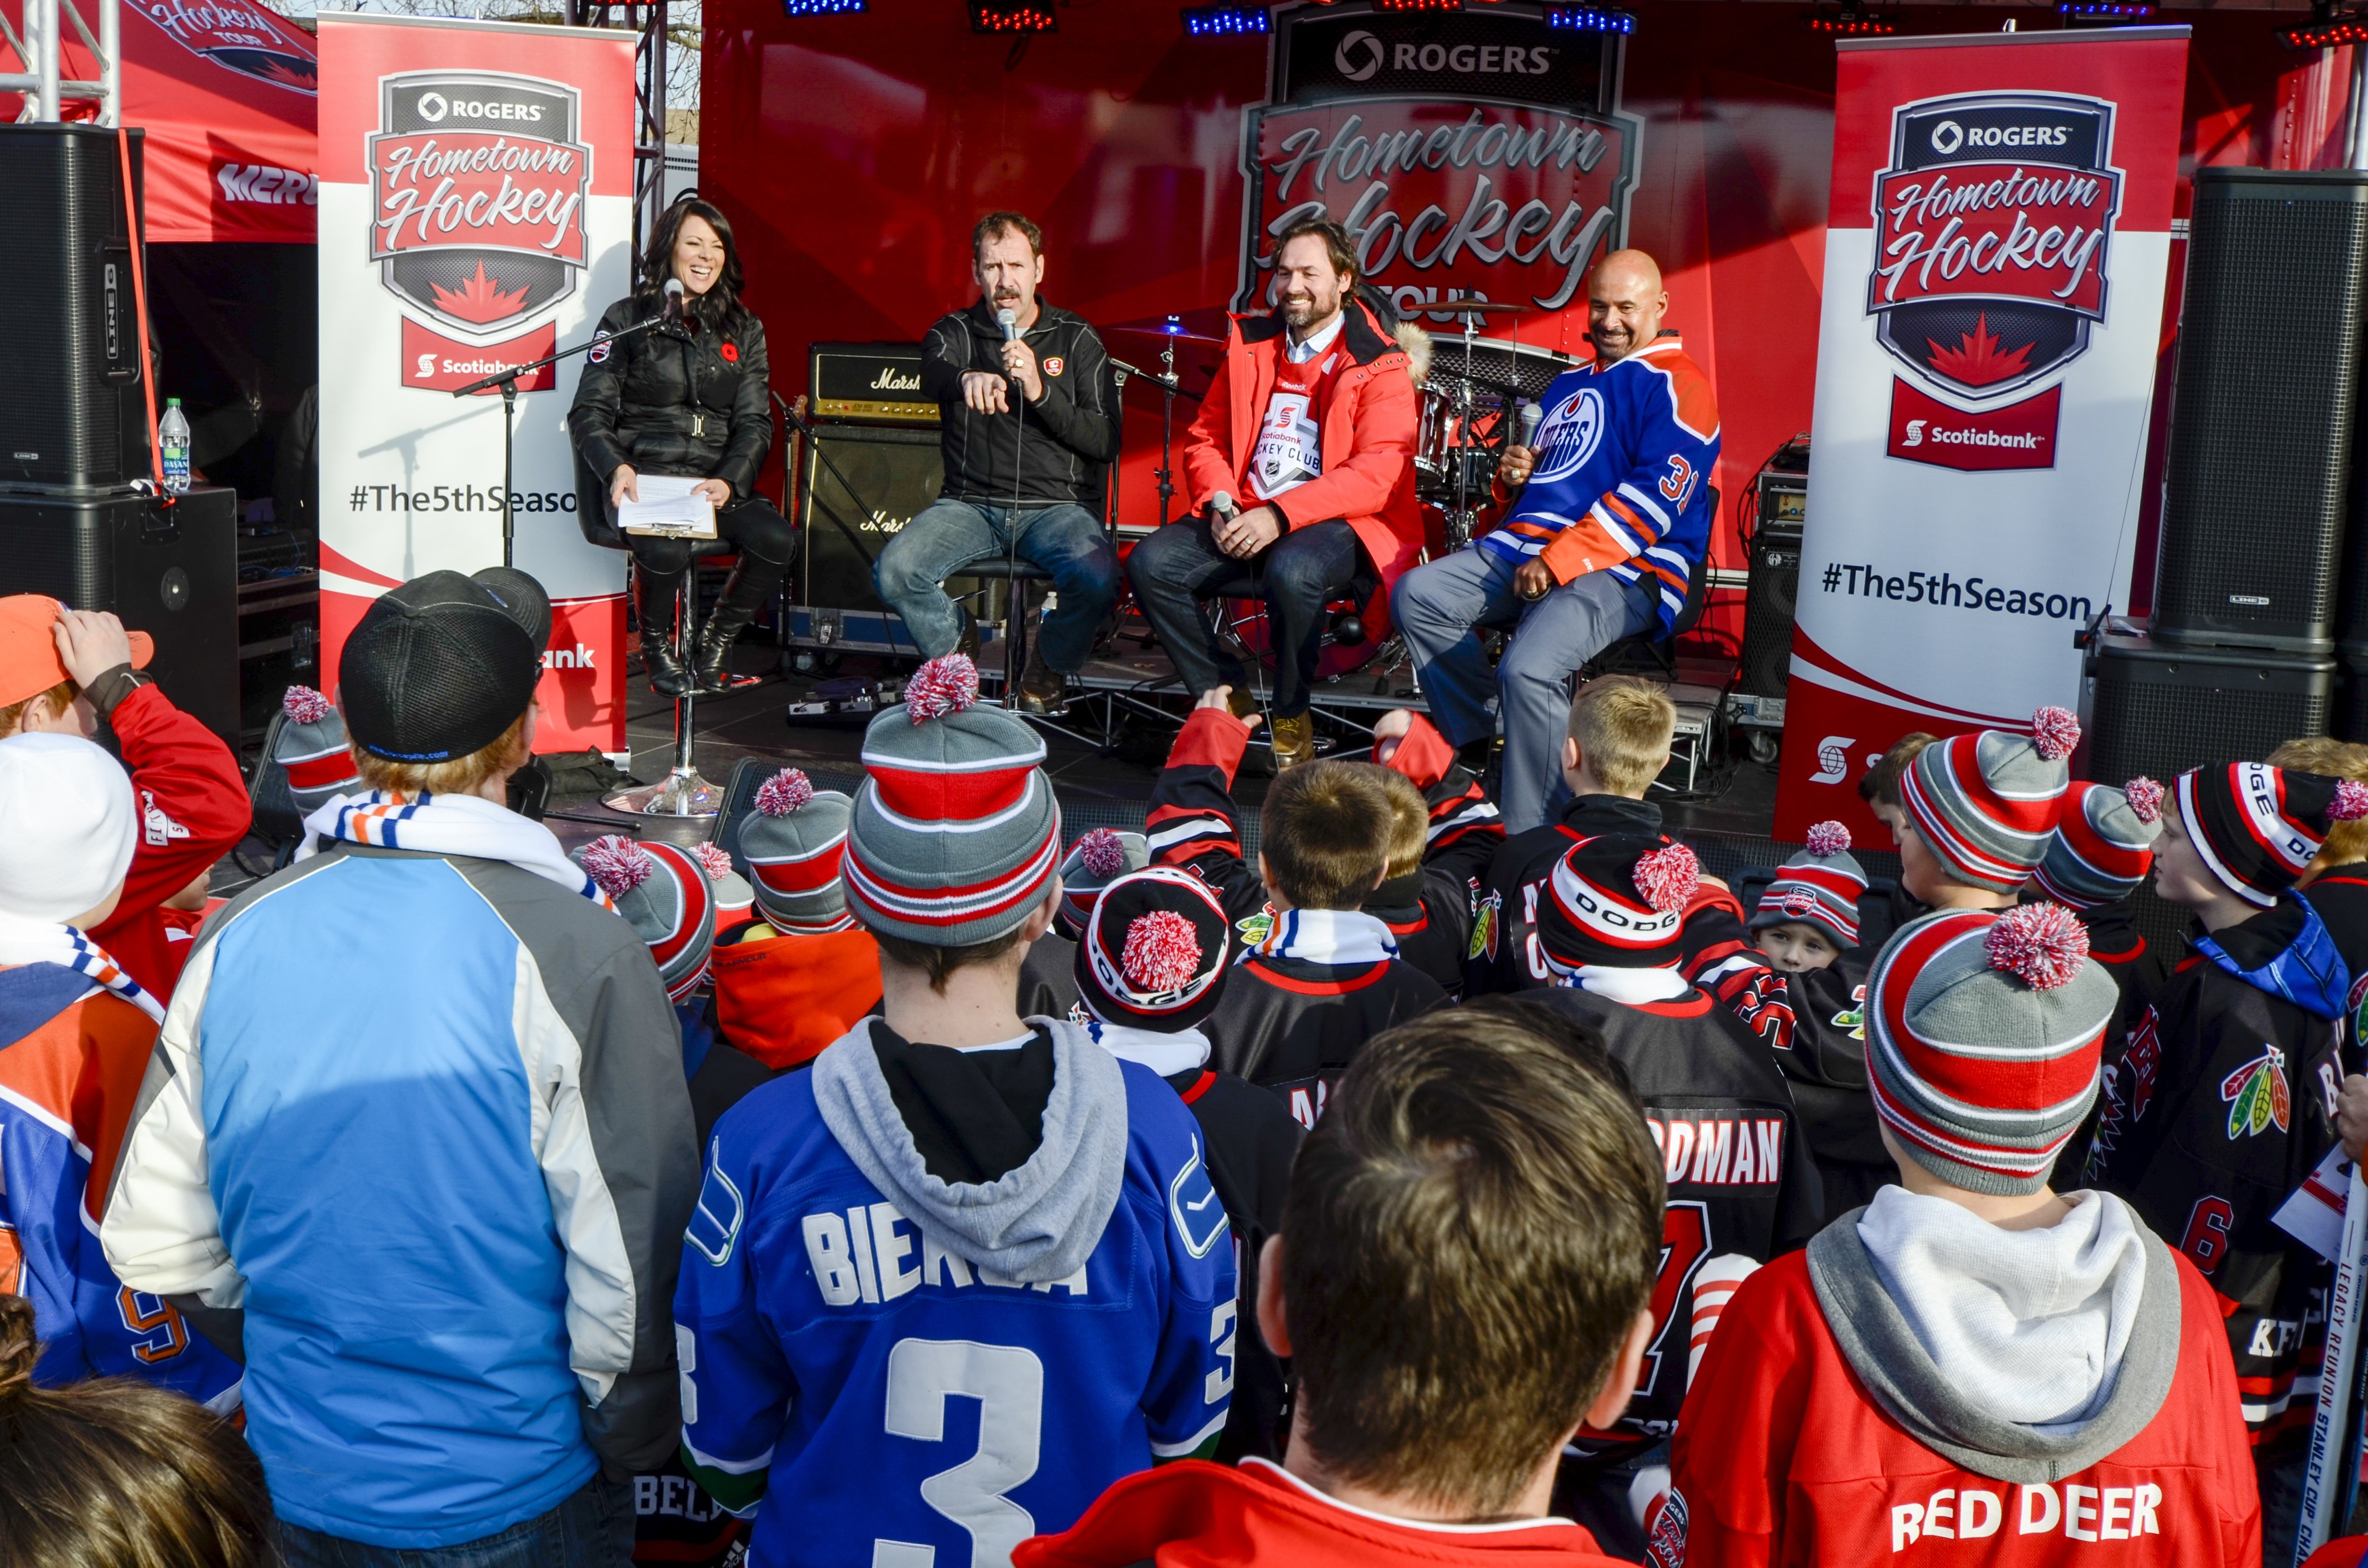
M1283 355L1281 313L1236 315L1217 379L1184 436L1184 483L1191 505L1210 495L1250 493L1250 448ZM1340 348L1354 360L1333 384L1324 410L1324 474L1267 502L1291 528L1347 521L1381 571L1381 602L1423 550L1423 509L1414 500L1418 403L1407 351L1362 301L1347 303Z

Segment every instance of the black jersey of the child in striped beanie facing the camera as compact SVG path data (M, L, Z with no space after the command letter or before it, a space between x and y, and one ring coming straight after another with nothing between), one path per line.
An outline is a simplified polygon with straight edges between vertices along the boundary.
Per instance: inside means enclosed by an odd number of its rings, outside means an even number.
M1748 957L1726 959L1714 995L1759 1035L1793 1085L1793 1108L1826 1189L1826 1213L1871 1203L1899 1177L1883 1149L1875 1099L1866 1087L1866 969L1845 952L1828 969L1783 973Z

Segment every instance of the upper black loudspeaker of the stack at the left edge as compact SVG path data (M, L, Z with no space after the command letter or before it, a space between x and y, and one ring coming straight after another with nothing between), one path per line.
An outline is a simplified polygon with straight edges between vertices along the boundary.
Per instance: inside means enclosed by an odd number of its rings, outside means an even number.
M114 490L149 471L121 171L114 130L0 126L0 298L21 306L0 377L0 483Z

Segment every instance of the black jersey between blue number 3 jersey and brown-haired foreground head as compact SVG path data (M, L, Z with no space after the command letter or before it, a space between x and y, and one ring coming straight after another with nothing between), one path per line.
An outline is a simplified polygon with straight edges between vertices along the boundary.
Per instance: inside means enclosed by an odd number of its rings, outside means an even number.
M1191 1106L1208 1139L1208 1180L1234 1229L1241 1317L1234 1338L1234 1405L1217 1440L1217 1464L1248 1454L1281 1461L1288 1435L1288 1369L1257 1331L1257 1258L1267 1236L1283 1229L1291 1161L1305 1132L1283 1106L1253 1085L1208 1068L1170 1073L1167 1082Z

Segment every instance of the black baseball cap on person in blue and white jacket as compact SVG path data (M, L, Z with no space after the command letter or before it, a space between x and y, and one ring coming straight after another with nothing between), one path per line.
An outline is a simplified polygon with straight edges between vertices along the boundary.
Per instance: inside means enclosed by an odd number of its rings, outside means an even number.
M500 587L483 576L431 571L362 613L336 661L355 746L388 763L448 763L502 739L535 701L535 630L540 621L549 637L549 597L521 571L507 571Z

